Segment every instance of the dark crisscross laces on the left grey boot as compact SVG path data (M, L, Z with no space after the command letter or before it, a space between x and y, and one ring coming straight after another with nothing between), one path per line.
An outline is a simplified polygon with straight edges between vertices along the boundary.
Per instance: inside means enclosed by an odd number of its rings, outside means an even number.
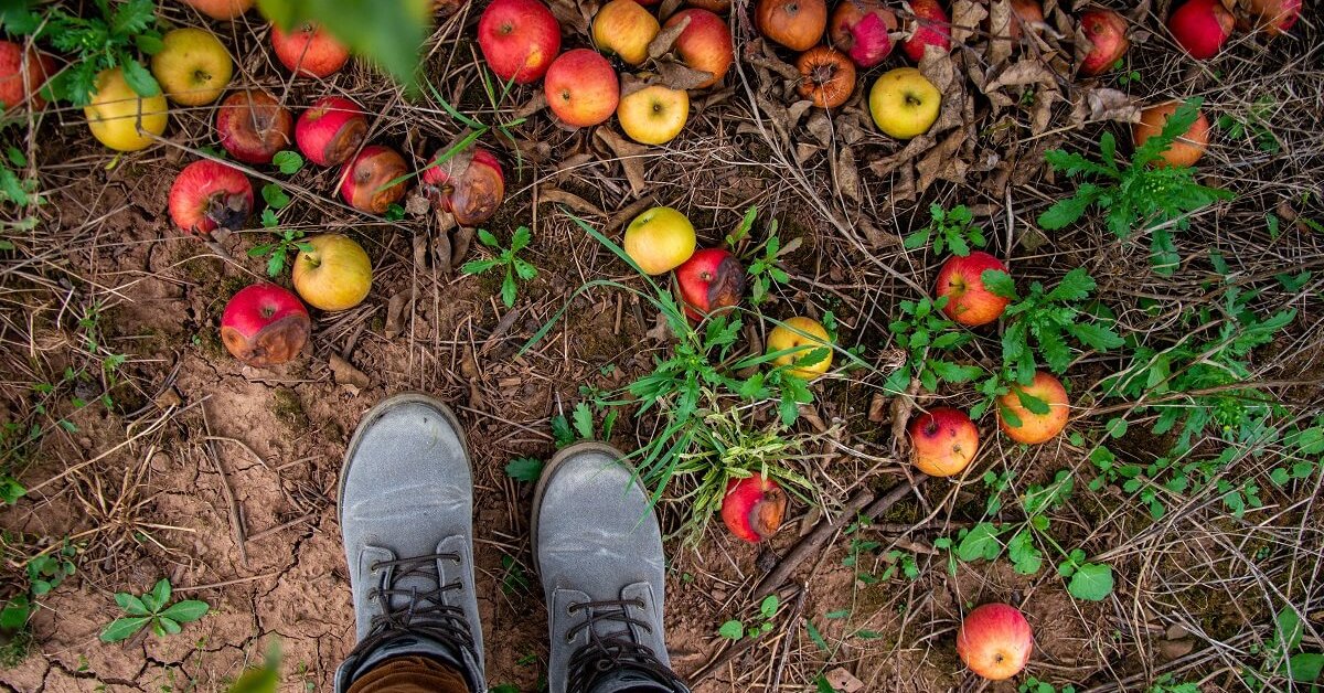
M368 599L377 600L381 613L372 617L368 636L354 648L355 653L372 652L396 637L422 635L449 647L457 656L461 651L467 651L475 660L479 659L465 610L445 602L446 592L463 590L463 584L459 582L441 584L438 560L461 563L459 554L450 553L379 560L372 564L372 570L380 571L380 578L377 586L368 591ZM410 576L430 580L437 587L432 590L397 587ZM404 600L392 607L395 598Z

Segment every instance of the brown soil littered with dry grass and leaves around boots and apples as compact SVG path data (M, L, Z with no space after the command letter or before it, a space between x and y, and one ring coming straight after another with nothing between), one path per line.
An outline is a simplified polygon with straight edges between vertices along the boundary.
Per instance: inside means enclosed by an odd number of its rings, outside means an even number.
M858 347L875 367L816 383L812 416L797 424L831 431L804 462L829 515L857 492L882 493L912 474L890 425L871 408L899 363L888 321L899 301L932 286L943 261L900 244L928 224L932 203L969 205L988 231L990 252L1008 258L1022 284L1088 268L1099 301L1135 334L1180 330L1164 323L1162 311L1147 313L1144 301L1211 301L1210 254L1218 253L1235 281L1267 286L1266 303L1298 310L1294 325L1253 358L1256 378L1276 383L1274 392L1290 409L1284 420L1324 411L1319 274L1299 290L1271 280L1324 268L1324 236L1288 223L1324 220L1317 15L1272 42L1260 33L1238 34L1222 56L1197 64L1161 28L1169 3L1119 8L1136 25L1127 69L1141 77L1129 82L1117 74L1071 80L1064 32L1009 54L981 32L965 32L952 58L924 65L944 91L939 126L903 144L869 122L863 89L831 117L800 103L785 78L788 56L756 40L741 15L748 3L736 5L741 66L719 87L694 94L690 123L675 142L613 144L604 131L614 125L597 134L568 131L545 111L515 127L514 139L485 138L510 176L507 203L489 228L502 240L519 225L534 232L528 260L539 276L520 288L514 309L500 305L493 278L449 272L432 252L429 242L448 232L437 229L430 211L372 219L339 204L334 170L310 166L289 179L267 167L254 171L256 182L279 180L294 197L282 228L348 233L375 265L368 301L346 313L315 313L311 345L270 370L242 366L217 335L226 299L262 277L263 260L246 253L265 231L204 244L172 229L166 215L175 174L200 148L217 146L212 107L172 109L166 140L123 156L98 147L81 111L68 106L48 109L36 129L7 129L5 143L34 162L48 203L37 212L37 229L13 236L17 248L0 253L0 420L44 432L21 454L7 452L5 464L28 493L0 510L0 596L26 590L29 560L64 542L75 547L77 572L38 598L30 651L0 670L0 688L225 690L278 640L282 690L327 690L354 644L335 513L344 445L373 403L424 391L457 411L473 448L490 685L538 690L548 651L528 553L532 485L515 481L504 466L516 457L551 456L551 419L569 413L581 386L621 387L670 348L647 303L609 288L576 293L601 278L643 285L567 209L620 239L634 212L667 204L694 220L707 245L757 205L761 220L780 221L782 241L801 240L782 258L790 281L773 286L761 313L821 318L830 310L841 346ZM1068 27L1072 4L1049 1L1046 8L1051 27ZM376 114L371 138L399 147L410 163L421 164L462 133L432 97L402 98L361 61L326 83L291 80L270 56L256 12L233 25L207 24L164 3L162 16L214 30L237 58L237 85L262 86L293 106L324 93L360 101ZM527 110L535 91L516 89L496 109L483 103L475 77L481 58L469 38L477 16L466 9L441 20L429 40L429 76L465 113L508 122ZM564 24L569 45L587 42L572 21ZM903 62L898 54L883 68ZM1019 68L1030 64L1045 72ZM861 83L883 68L865 73ZM1009 76L1013 68L1025 74ZM1035 228L1039 212L1071 187L1045 170L1045 151L1092 152L1104 130L1129 139L1125 110L1135 103L1202 95L1211 113L1245 115L1263 94L1274 99L1266 122L1282 147L1264 152L1226 133L1214 139L1201 164L1204 180L1234 189L1237 199L1200 212L1178 237L1188 261L1174 276L1152 273L1144 241L1119 241L1096 217L1053 235ZM1267 211L1287 220L1282 236L1266 233ZM756 233L765 231L760 221ZM479 253L470 249L467 258ZM547 338L518 354L567 302L565 318ZM965 359L993 364L997 341L996 331L982 334ZM127 355L117 374L101 366L107 354ZM334 372L332 356L356 372ZM1100 412L1116 401L1103 398L1099 380L1120 363L1120 356L1091 352L1072 364L1066 379L1072 431L1102 435L1108 417ZM87 375L62 379L66 370ZM40 383L54 387L36 388ZM95 401L102 394L111 396L109 407ZM75 398L91 404L79 408ZM968 407L977 395L944 386L929 401L937 399ZM994 600L1018 604L1035 628L1027 673L1079 690L1147 690L1177 681L1198 682L1200 690L1253 690L1242 666L1258 665L1255 647L1271 636L1280 603L1268 595L1303 607L1309 624L1303 647L1319 649L1321 527L1313 506L1319 486L1311 485L1317 476L1286 489L1260 481L1266 507L1245 518L1222 511L1210 493L1176 493L1169 514L1155 521L1116 484L1084 490L1094 472L1082 445L1062 437L1017 447L997 435L992 413L978 423L986 443L974 473L931 480L873 526L834 534L794 571L780 592L773 628L756 641L732 644L718 631L731 619L759 621L765 595L756 584L825 510L794 504L785 529L757 547L731 538L719 522L695 546L669 541L667 640L677 670L696 680L698 693L817 690L821 673L838 670L858 680L859 688L842 686L850 693L1017 690L1025 676L982 682L953 651L961 615ZM1137 432L1117 448L1137 460L1161 454L1147 448L1160 436L1132 428ZM626 408L612 441L636 449L655 431L653 413L634 416ZM1263 478L1270 466L1247 458L1234 474ZM935 549L935 539L981 519L984 470L1014 472L1014 496L1063 468L1082 477L1076 500L1051 514L1055 531L1112 563L1117 588L1108 599L1072 599L1053 566L1021 575L1005 559L956 562ZM669 496L659 511L667 530L682 526L683 502ZM859 538L878 547L847 566ZM915 559L914 578L892 571L876 583L859 579L861 572L884 574L896 560L891 550ZM177 636L101 643L98 633L119 615L114 594L139 594L162 576L213 611ZM849 616L828 617L831 612Z

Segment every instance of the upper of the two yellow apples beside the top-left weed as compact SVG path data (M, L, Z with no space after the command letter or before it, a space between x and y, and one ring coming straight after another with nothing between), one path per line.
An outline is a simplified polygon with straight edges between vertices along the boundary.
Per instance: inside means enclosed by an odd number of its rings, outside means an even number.
M180 106L205 106L221 98L234 62L212 32L175 29L162 44L160 53L152 56L152 74L167 98Z

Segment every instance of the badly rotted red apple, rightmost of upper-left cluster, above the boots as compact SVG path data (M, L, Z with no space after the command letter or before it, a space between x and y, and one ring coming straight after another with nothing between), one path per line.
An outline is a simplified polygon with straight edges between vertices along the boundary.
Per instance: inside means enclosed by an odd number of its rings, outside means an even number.
M441 150L433 162L448 150ZM429 166L422 172L424 192L433 204L455 216L463 227L477 227L496 213L506 196L500 162L485 148Z

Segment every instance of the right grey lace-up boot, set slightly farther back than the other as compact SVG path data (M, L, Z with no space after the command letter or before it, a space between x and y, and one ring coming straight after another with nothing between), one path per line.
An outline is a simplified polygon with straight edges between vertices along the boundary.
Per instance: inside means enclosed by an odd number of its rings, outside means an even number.
M688 689L662 632L662 533L616 448L557 453L534 494L534 564L547 595L551 693Z

